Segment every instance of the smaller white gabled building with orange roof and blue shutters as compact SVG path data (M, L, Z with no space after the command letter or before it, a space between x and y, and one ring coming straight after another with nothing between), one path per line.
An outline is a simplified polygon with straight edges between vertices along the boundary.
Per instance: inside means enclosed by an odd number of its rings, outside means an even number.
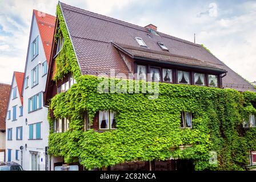
M21 164L21 149L23 144L23 100L21 96L24 73L14 72L11 82L9 102L6 113L6 162Z

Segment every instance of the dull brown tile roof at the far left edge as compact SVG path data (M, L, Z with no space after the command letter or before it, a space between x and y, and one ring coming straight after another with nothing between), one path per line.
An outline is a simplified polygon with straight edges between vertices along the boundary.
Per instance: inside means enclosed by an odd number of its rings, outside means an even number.
M9 101L11 85L0 83L0 130L5 131L5 115Z

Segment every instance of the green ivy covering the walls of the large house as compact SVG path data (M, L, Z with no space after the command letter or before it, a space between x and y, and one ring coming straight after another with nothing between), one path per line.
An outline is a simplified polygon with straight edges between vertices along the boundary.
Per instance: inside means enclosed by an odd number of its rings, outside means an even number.
M242 121L255 110L255 93L166 83L159 83L159 97L155 100L149 100L150 93L98 93L103 78L81 75L59 6L57 16L59 34L65 42L56 59L54 79L73 72L77 84L50 102L49 110L56 118L70 118L69 131L53 133L49 114L50 155L63 156L66 163L80 159L87 169L171 157L192 159L197 170L246 168L247 152L256 150L256 130L244 132ZM118 84L121 80L111 78L108 82L111 81ZM83 131L85 111L92 122L97 111L109 109L117 111L117 130ZM179 129L181 111L193 113L193 129ZM184 145L191 147L181 150L179 146ZM212 151L217 153L217 164L209 162Z

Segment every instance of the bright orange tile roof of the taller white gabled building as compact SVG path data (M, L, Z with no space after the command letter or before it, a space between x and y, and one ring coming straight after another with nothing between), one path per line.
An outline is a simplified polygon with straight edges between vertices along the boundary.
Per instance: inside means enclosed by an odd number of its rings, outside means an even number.
M42 39L43 49L45 50L46 60L49 65L55 26L55 16L42 13L38 10L33 10L33 13L35 14L35 19L37 20L37 26Z

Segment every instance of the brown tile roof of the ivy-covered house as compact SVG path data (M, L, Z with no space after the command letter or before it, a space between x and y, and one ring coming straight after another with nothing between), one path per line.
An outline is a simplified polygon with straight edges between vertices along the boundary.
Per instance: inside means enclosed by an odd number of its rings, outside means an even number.
M89 73L87 72L88 70L101 69L104 72L109 68L115 68L124 73L129 72L125 62L121 59L121 56L118 56L118 51L113 48L111 42L133 47L133 49L127 51L145 56L145 52L138 51L141 47L135 40L135 37L139 37L143 39L151 52L161 52L161 54L157 55L159 57L166 56L166 52L157 44L157 42L162 42L169 48L169 56L183 56L188 61L186 63L186 60L184 60L186 64L190 60L199 64L206 64L207 67L213 65L228 71L227 75L223 77L224 88L256 92L253 85L232 71L199 44L194 44L161 32L157 32L158 35L155 35L145 27L91 13L90 11L66 5L65 3L59 3L83 74Z

